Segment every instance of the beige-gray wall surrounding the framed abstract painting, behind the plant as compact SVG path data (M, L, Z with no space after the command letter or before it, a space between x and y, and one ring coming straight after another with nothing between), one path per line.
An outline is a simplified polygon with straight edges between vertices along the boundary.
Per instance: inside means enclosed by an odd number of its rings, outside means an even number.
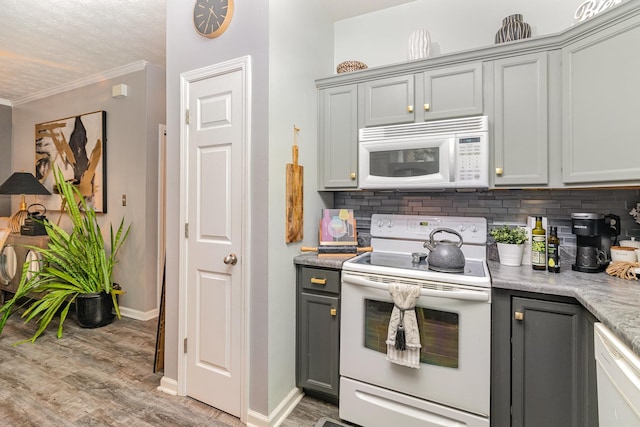
M128 85L128 96L112 98L111 87L120 83ZM148 64L139 71L13 108L13 167L25 171L34 170L35 124L106 111L108 213L100 215L99 221L107 233L108 224L117 226L122 217L131 224L114 275L126 291L121 298L123 312L137 318L157 315L158 125L165 121L164 99L164 71ZM123 194L126 207L121 203ZM17 201L14 198L15 208ZM53 212L48 216L58 218Z

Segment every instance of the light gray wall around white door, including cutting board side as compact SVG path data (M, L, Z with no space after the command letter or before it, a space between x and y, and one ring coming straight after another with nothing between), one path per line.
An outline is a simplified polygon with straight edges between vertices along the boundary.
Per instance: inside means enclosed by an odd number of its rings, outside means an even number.
M168 0L167 16L167 334L165 377L177 379L180 73L250 55L251 269L249 273L249 410L273 414L295 389L295 243L285 244L284 172L291 162L293 125L300 127L305 167L305 241L317 242L324 207L317 188L315 79L332 73L333 23L315 1L236 2L228 30L217 39L191 28L192 4ZM256 415L257 414L257 415Z

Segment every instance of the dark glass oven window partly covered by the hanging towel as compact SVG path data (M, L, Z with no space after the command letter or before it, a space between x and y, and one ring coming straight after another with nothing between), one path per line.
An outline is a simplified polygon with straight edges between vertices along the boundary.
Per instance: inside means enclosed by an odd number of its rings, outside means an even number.
M387 330L393 303L365 300L364 346L387 354ZM458 367L457 313L416 307L420 331L420 362L445 368Z

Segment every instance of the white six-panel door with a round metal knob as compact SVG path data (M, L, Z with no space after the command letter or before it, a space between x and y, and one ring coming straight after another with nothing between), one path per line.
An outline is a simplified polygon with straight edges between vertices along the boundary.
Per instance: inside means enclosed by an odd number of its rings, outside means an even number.
M187 86L186 394L241 417L247 115L243 69Z

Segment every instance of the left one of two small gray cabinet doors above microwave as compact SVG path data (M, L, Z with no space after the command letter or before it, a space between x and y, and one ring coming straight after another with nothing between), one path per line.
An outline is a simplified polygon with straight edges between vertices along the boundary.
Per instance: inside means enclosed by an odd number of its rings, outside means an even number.
M413 75L368 81L360 89L365 127L415 121Z

